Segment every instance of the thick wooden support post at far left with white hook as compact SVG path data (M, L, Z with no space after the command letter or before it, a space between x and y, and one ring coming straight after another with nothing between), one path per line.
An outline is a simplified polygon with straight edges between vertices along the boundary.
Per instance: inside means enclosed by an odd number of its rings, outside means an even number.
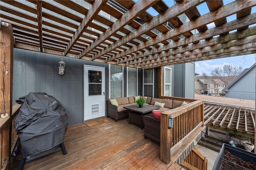
M1 22L1 21L0 21ZM0 23L0 119L12 117L12 70L14 37L12 25ZM12 121L9 121L12 123ZM2 125L1 125L2 126ZM1 165L8 169L10 161L10 125L2 131Z

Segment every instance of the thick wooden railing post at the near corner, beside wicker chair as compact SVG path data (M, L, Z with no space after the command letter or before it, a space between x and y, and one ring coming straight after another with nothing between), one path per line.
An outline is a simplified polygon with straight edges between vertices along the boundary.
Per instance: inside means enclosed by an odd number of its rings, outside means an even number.
M171 161L172 129L168 129L168 115L161 113L160 159L168 164Z

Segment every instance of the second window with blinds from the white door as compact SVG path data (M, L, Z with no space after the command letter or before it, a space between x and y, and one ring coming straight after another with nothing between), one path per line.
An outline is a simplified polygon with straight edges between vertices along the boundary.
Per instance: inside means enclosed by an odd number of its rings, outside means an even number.
M138 69L137 68L127 68L127 96L137 96L138 95Z

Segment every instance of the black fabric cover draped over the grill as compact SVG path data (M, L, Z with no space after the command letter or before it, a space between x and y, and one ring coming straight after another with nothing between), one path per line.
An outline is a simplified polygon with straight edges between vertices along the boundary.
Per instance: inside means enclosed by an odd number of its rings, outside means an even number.
M22 97L20 99L22 101ZM46 93L29 93L22 103L14 128L20 137L23 157L51 149L64 141L68 115L58 100Z

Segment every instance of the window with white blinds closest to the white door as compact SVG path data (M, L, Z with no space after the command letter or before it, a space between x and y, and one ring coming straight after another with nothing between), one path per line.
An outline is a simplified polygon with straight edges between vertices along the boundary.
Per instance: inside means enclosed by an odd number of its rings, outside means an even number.
M123 97L123 67L110 65L110 98Z

